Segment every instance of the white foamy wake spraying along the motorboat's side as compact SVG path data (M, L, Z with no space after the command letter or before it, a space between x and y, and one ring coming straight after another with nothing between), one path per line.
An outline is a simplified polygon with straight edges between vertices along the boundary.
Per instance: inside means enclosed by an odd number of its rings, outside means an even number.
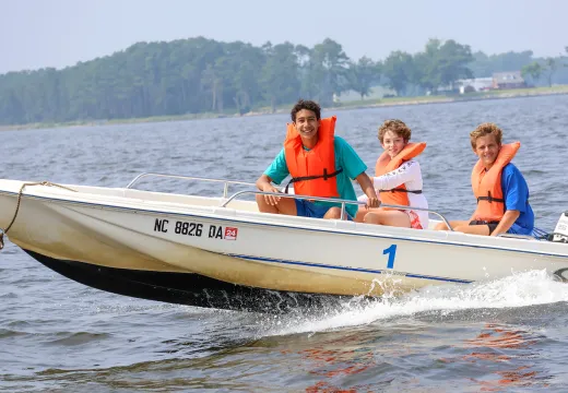
M377 321L417 318L435 312L442 318L461 311L509 309L568 301L568 285L546 271L530 271L470 285L425 287L402 297L354 299L323 315L279 315L265 320L265 335L316 333Z

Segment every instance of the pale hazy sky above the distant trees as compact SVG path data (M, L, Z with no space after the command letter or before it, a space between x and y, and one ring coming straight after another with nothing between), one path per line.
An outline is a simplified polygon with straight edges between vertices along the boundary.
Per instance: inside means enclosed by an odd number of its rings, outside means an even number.
M309 47L330 37L354 60L414 53L430 37L558 56L567 15L565 0L0 0L0 73L197 36Z

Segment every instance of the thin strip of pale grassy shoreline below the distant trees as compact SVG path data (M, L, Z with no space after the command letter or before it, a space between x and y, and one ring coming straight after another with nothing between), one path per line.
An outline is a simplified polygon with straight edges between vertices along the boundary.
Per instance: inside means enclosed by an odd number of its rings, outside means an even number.
M468 103L477 100L493 100L493 99L509 99L509 98L526 98L541 97L552 95L568 95L568 85L559 85L554 87L533 87L522 90L508 90L495 93L473 93L468 96L418 96L418 97L392 97L369 100L356 100L348 103L341 103L338 106L322 108L324 110L348 110L348 109L369 109L392 106L413 106L413 105L429 105L429 104L451 104L451 103ZM292 105L292 104L291 104ZM225 115L225 114L191 114L166 117L150 117L150 118L129 118L116 120L88 120L88 121L69 121L62 123L26 123L26 124L10 124L0 126L0 131L22 131L22 130L39 130L50 128L69 128L69 127L98 127L113 124L134 124L149 122L168 122L168 121L186 121L186 120L203 120L203 119L222 119L222 118L238 118L250 116L265 116L285 114L288 109L277 108L275 111L255 110L244 115Z

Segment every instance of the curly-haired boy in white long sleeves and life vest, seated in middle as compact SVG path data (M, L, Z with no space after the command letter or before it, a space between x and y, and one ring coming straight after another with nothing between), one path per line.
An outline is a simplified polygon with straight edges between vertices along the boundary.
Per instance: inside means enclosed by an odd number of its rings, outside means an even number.
M426 148L426 143L409 143L410 139L411 129L403 121L393 119L382 123L379 141L384 152L377 159L372 182L381 203L428 209L422 193L421 165L414 159ZM366 201L366 195L358 200ZM428 212L387 207L359 210L355 221L423 229L428 227Z

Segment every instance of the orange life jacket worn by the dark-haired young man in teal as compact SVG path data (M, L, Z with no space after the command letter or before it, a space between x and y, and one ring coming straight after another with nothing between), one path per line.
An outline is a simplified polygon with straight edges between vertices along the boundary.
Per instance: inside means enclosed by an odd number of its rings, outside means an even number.
M335 170L335 119L332 116L320 120L318 143L309 151L304 148L301 136L294 124L287 124L284 153L295 194L323 198L340 195L336 176L343 169Z

